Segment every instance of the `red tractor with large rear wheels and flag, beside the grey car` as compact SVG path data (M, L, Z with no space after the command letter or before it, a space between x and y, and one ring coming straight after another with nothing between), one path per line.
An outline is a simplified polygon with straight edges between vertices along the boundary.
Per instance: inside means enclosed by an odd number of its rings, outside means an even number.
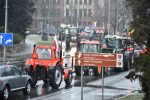
M35 86L38 80L43 80L45 84L50 84L52 88L58 88L64 80L66 85L72 82L72 69L63 67L64 58L62 50L55 44L54 38L51 41L40 41L34 45L32 58L25 62L25 69L32 77L32 86Z

